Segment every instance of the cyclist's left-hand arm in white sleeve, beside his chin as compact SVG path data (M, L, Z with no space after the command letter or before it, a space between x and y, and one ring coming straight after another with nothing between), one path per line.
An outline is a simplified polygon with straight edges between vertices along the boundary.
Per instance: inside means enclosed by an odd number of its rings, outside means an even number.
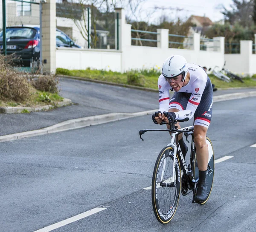
M166 79L164 76L161 74L158 77L158 90L159 90L159 111L163 113L163 111L168 112L169 108L169 101L170 101L170 96L169 96L169 89L170 85L168 82L166 82Z

